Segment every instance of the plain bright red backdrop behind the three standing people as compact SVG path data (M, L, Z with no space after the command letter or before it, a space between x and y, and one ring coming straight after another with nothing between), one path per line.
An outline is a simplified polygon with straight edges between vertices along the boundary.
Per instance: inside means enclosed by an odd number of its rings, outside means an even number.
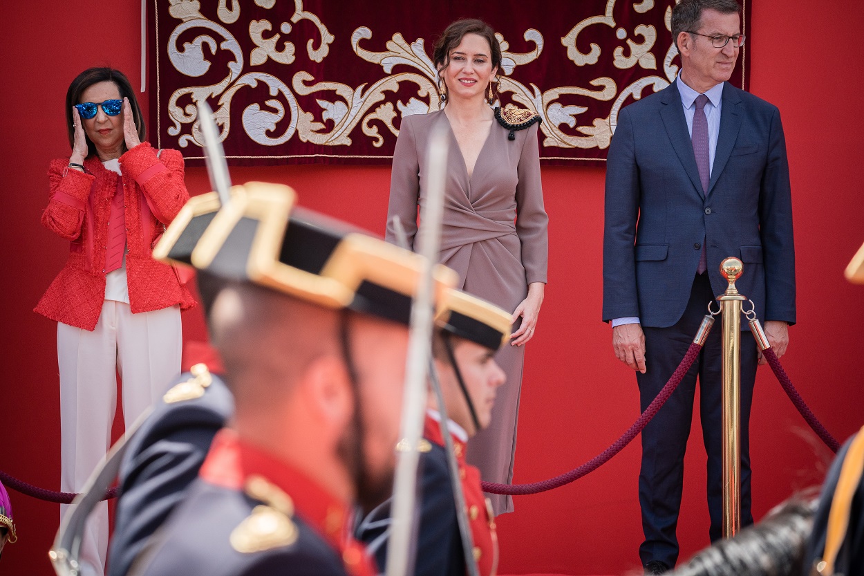
M858 94L864 79L846 54L864 26L864 6L805 0L763 0L753 10L753 93L783 114L794 196L798 324L784 358L793 381L829 429L845 438L864 423L861 324L864 287L842 270L864 241L864 148ZM105 10L111 17L104 17ZM66 259L66 243L39 224L48 161L69 153L62 102L80 70L97 64L139 80L136 3L82 0L74 5L15 3L3 26L7 84L0 92L0 227L5 330L3 441L0 470L56 489L60 477L55 326L32 312ZM797 41L830 38L830 52ZM146 102L146 99L143 99ZM389 169L283 166L232 169L237 182L287 182L302 204L381 231ZM632 373L613 357L610 330L600 323L602 169L544 167L550 213L550 285L537 338L528 349L520 414L516 480L569 470L611 444L637 416ZM206 191L203 169L188 170L193 193ZM185 317L186 335L200 336L200 318ZM698 419L696 413L695 421ZM683 555L708 543L705 458L698 430L687 459ZM822 477L826 451L762 368L753 406L754 513L764 515L794 490ZM566 488L517 498L517 512L499 519L501 573L624 573L638 565L638 445ZM57 506L11 494L20 539L0 560L4 574L48 576L47 551Z

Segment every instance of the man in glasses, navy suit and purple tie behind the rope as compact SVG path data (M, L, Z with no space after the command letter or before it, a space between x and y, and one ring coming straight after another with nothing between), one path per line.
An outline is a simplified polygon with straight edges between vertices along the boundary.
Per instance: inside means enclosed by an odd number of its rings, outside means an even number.
M726 290L721 260L744 262L736 285L783 355L795 322L795 257L785 138L776 106L727 80L744 36L735 0L682 0L672 11L677 79L619 113L609 149L603 319L636 371L643 410L689 347L706 306ZM746 323L742 323L746 327ZM741 523L750 512L747 427L758 352L741 338ZM675 394L642 432L639 503L646 573L678 556L683 456L696 376L708 452L710 537L721 536L721 338L715 330Z

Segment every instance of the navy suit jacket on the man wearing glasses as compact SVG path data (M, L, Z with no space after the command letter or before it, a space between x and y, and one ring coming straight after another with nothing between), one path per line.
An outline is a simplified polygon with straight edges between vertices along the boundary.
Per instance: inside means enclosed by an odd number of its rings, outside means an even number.
M777 107L724 84L706 194L673 82L619 112L607 157L603 320L677 323L702 242L715 294L727 288L721 260L735 256L744 263L736 285L759 320L795 323L789 165Z

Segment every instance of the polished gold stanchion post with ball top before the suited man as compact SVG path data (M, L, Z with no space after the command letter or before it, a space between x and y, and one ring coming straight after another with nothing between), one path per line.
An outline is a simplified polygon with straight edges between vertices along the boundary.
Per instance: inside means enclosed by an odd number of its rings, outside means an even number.
M721 262L720 271L729 283L726 292L718 296L723 324L723 537L734 536L741 527L740 470L740 337L741 302L745 297L735 288L744 264L737 258Z

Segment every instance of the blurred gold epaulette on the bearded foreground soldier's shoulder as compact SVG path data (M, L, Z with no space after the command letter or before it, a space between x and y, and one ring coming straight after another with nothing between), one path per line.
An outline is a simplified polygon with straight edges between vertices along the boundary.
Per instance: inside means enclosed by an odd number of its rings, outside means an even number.
M291 496L261 476L247 478L245 491L263 503L232 530L231 546L241 554L252 554L294 544L298 530L291 519L294 515Z

